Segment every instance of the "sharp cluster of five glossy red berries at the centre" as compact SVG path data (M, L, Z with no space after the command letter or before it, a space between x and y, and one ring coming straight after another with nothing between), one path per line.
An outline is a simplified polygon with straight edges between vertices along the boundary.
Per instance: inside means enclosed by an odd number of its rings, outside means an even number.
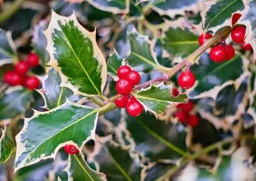
M135 97L130 95L134 85L140 83L140 74L131 70L127 65L118 68L117 75L119 80L116 82L116 91L122 96L115 100L117 107L126 108L131 116L140 116L143 106Z

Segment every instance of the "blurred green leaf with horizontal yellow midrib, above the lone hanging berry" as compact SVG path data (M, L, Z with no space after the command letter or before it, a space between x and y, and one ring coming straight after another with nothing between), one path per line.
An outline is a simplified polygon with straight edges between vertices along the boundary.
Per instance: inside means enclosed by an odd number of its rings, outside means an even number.
M198 36L188 28L169 28L163 39L163 46L173 56L186 57L199 47Z

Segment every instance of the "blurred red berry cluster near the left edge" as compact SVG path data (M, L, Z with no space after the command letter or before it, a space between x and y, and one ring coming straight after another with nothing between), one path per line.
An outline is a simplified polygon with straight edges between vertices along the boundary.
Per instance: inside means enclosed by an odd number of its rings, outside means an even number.
M10 86L22 85L29 90L33 90L40 86L40 81L36 76L28 76L29 67L37 67L39 65L39 57L37 54L29 54L27 61L19 61L15 64L15 70L9 70L4 74L4 82Z

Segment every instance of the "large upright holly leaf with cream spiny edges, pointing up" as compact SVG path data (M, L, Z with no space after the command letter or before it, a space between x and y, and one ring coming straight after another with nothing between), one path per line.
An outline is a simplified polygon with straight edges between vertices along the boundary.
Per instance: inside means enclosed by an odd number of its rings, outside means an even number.
M62 17L52 11L49 28L44 31L49 65L61 75L61 86L75 94L102 96L106 84L107 66L96 41L96 31L87 31L75 14Z

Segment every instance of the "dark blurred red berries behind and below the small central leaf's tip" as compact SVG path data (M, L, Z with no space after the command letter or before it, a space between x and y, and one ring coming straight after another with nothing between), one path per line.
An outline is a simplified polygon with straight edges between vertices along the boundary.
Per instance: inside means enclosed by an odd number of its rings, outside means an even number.
M177 97L179 95L179 91L177 88L172 90L172 95ZM177 107L177 112L175 113L175 117L181 123L186 123L191 127L197 127L199 123L199 117L196 114L191 114L191 111L194 109L195 104L189 100L188 103L180 103Z

